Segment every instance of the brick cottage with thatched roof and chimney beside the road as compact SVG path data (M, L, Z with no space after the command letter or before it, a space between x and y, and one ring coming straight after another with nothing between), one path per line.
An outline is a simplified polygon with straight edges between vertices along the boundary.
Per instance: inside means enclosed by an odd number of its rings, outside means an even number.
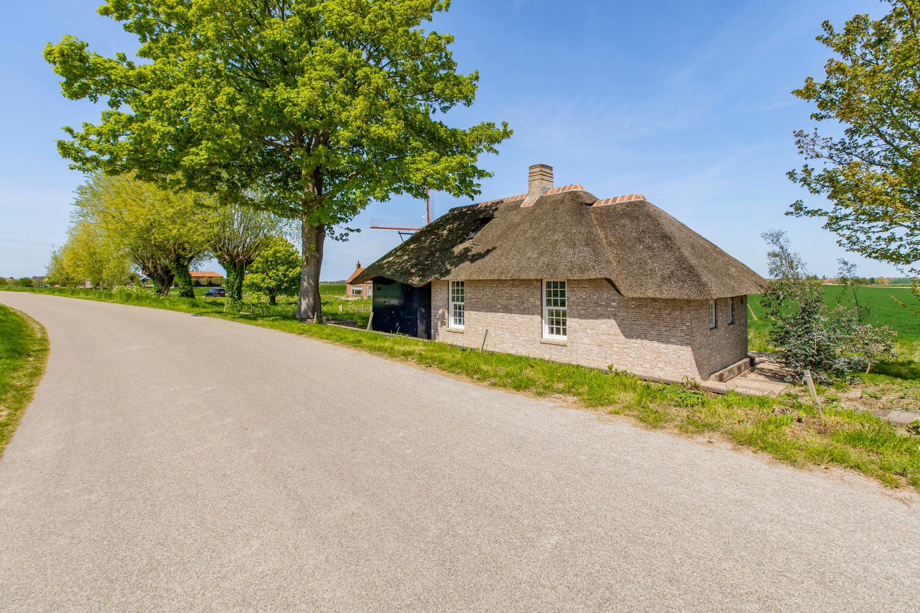
M641 194L530 167L527 193L457 207L371 266L374 330L664 380L750 365L764 280Z

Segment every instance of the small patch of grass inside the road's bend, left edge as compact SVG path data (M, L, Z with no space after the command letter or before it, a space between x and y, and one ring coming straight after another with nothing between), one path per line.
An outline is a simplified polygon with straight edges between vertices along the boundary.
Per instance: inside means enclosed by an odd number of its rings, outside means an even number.
M28 315L0 304L0 456L22 421L48 359L48 335Z

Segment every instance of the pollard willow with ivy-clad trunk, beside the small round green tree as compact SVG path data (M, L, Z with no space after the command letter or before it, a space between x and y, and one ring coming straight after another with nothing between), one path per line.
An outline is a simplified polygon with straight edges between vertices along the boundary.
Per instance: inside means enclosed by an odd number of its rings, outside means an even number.
M229 204L217 210L208 249L226 271L226 299L243 300L246 270L283 230L283 220L264 210Z

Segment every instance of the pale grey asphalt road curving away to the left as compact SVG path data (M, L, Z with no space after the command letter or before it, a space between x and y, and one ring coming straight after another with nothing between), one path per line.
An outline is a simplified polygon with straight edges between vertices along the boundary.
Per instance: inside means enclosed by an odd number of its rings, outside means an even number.
M0 292L48 371L0 611L916 611L920 510L625 420L177 312Z

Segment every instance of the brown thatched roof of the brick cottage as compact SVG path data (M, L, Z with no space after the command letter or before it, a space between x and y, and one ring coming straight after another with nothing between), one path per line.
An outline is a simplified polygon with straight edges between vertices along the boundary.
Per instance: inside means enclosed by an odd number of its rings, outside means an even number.
M627 298L677 300L762 289L751 268L640 194L598 200L580 185L553 192L452 209L352 282L605 278Z

